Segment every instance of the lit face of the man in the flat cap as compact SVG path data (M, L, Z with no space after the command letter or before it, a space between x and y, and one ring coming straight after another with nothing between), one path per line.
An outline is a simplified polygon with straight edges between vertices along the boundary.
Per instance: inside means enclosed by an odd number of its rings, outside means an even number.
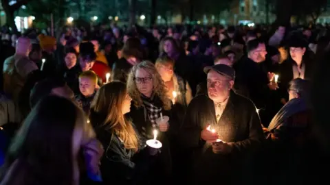
M234 82L217 71L208 72L208 97L214 102L221 102L228 97Z

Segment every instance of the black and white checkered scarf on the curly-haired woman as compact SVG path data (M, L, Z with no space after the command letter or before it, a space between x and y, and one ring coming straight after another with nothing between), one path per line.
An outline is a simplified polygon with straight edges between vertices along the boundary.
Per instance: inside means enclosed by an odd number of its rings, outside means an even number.
M157 125L156 119L160 117L160 113L162 112L162 108L158 108L157 106L155 106L154 99L154 95L152 95L151 98L144 97L142 95L143 105L146 108L148 118L153 127Z

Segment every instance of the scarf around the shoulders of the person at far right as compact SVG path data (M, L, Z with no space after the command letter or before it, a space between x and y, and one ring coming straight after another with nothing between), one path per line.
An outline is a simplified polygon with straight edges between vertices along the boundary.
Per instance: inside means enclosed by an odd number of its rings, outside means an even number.
M268 126L268 130L270 130L270 131L274 130L276 127L281 125L290 116L292 116L298 112L308 110L308 109L309 109L309 106L307 106L305 99L295 98L295 99L290 100L274 116L274 118L270 122L270 125Z

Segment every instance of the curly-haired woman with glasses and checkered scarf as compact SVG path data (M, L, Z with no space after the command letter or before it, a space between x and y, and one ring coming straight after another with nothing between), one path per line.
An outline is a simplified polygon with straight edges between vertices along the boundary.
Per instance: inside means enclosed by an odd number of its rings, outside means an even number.
M172 171L168 142L170 125L168 123L157 124L157 119L161 117L161 114L163 117L171 117L171 101L168 99L164 81L155 65L144 61L133 66L126 86L133 99L128 116L135 123L138 132L144 136L144 139L151 139L153 130L159 130L157 139L163 144L155 167L149 173L151 184L168 184ZM159 182L159 180L162 181Z

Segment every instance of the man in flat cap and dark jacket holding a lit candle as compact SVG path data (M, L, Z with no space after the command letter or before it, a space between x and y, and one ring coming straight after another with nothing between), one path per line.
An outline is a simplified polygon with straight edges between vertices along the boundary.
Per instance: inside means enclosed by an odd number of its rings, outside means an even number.
M208 97L192 99L179 131L186 175L192 184L247 184L252 151L264 139L256 107L232 90L230 66L208 66L204 72Z

